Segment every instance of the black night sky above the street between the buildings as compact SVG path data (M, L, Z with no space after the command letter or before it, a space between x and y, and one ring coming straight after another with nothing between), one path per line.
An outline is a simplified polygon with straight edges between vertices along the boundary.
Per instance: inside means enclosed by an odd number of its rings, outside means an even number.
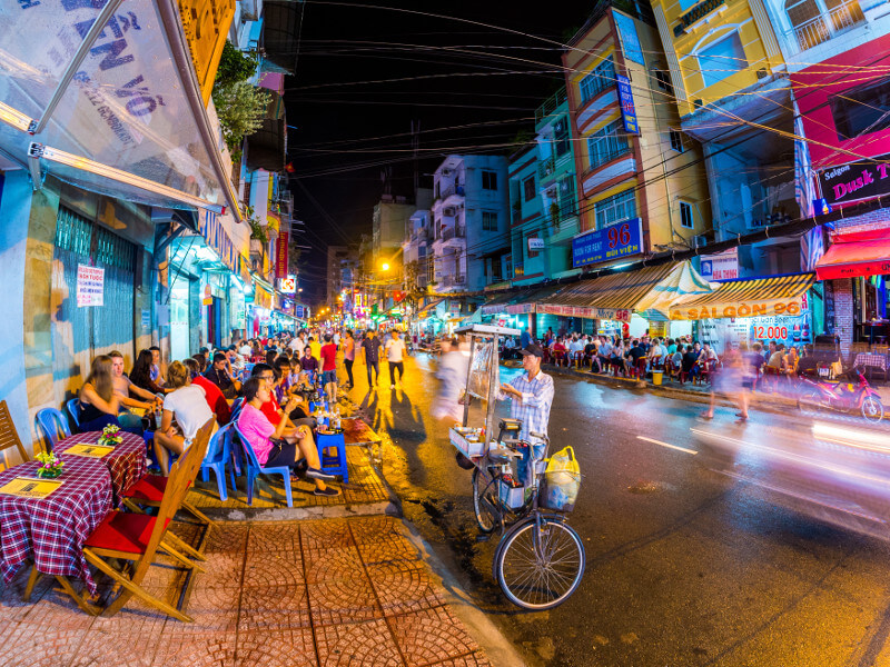
M412 121L421 128L421 187L432 187L448 153L508 155L518 132L533 136L535 108L564 83L558 43L593 4L390 0L305 8L285 100L290 189L308 230L297 242L312 247L303 251L300 286L317 302L327 245L370 233L384 171L393 195L413 196Z

